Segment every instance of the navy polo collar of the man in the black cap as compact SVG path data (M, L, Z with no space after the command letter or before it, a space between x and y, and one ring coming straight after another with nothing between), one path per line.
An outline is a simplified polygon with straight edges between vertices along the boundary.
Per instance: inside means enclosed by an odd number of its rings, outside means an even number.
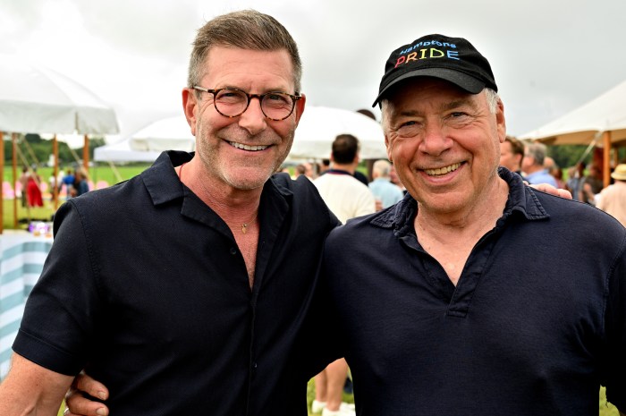
M503 212L503 218L519 213L527 220L539 220L549 217L546 209L537 199L537 190L526 186L519 174L514 174L504 167L498 168L498 174L509 185L509 199ZM393 228L395 233L404 235L413 229L413 218L418 211L418 203L410 193L389 209L373 216L371 225L381 228Z

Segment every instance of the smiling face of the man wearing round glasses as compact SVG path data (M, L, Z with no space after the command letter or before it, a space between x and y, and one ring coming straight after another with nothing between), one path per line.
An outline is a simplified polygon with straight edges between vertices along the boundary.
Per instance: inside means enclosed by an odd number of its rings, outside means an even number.
M294 94L293 79L292 61L286 50L212 47L199 86L241 89L250 94ZM297 101L292 115L281 121L267 119L257 98L252 98L242 115L226 117L217 113L213 94L202 92L198 98L195 91L185 89L185 114L209 180L237 190L262 187L292 148L304 101Z

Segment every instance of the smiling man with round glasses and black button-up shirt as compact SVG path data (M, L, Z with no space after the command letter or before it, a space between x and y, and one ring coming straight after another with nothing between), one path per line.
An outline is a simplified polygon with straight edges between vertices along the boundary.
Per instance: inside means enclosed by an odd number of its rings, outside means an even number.
M309 180L273 176L304 109L300 74L270 16L199 30L182 91L196 153L59 209L0 414L56 414L86 369L116 416L306 415L294 344L338 221Z

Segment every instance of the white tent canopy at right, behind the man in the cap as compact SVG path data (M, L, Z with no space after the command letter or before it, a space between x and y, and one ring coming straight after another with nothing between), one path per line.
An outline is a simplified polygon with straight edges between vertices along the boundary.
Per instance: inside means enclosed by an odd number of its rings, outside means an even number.
M550 145L588 145L602 133L611 132L611 142L626 140L626 81L592 99L584 106L563 115L520 139L541 140Z

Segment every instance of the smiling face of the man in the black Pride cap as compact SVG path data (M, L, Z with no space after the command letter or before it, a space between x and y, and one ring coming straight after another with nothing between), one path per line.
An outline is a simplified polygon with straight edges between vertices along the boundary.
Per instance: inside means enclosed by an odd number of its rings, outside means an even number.
M485 91L417 78L390 93L383 112L387 155L420 210L458 216L488 200L506 130L499 99L494 114Z

